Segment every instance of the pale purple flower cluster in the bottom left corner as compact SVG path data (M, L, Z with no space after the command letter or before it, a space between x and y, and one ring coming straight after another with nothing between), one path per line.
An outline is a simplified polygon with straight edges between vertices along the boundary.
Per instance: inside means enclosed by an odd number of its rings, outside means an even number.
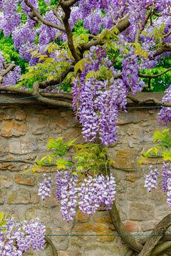
M0 227L0 255L22 256L31 247L33 250L44 250L45 233L45 226L38 218L16 223L14 218L7 217L6 225Z

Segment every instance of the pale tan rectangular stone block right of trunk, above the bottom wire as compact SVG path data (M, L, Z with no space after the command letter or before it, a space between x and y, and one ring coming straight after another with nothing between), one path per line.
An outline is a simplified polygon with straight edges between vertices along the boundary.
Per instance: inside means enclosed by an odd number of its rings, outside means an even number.
M130 220L153 220L154 206L145 203L130 203Z

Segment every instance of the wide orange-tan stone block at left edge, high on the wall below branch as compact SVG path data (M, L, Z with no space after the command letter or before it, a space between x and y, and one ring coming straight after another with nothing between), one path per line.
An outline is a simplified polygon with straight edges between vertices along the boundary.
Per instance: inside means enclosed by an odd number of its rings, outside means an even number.
M19 137L21 135L26 134L28 130L27 124L18 123L14 121L4 122L2 124L1 136L2 137Z

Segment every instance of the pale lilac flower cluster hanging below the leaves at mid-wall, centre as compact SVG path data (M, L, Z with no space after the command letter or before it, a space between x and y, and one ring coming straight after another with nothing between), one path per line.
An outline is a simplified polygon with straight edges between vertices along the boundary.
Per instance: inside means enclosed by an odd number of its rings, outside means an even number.
M111 208L115 200L115 178L112 174L108 176L88 176L81 186L78 186L78 175L71 171L58 171L56 174L56 199L61 200L61 214L63 220L69 222L76 215L76 207L82 213L92 215L98 207L105 204L106 210ZM39 188L38 195L46 193L47 186ZM45 190L43 192L43 189ZM50 195L50 193L48 193Z

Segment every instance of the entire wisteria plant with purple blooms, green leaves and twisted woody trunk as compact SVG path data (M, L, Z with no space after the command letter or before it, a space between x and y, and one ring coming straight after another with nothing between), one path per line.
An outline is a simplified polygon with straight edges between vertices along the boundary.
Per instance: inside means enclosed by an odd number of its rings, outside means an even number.
M114 202L115 178L108 171L112 160L107 154L108 145L117 141L118 112L126 112L128 99L162 106L160 124L171 120L171 85L162 101L136 97L150 91L156 78L170 78L171 68L161 68L170 60L170 24L170 0L0 0L1 38L12 42L15 53L6 46L0 52L1 92L72 107L86 141L79 145L50 139L48 149L54 152L37 161L33 171L40 165L56 166L56 199L64 220L72 221L76 208L92 214L105 204L128 245L125 256L170 253L170 237L164 233L171 214L152 230L163 236L138 241L125 229ZM143 152L140 163L145 157L163 157L162 190L171 206L169 130L155 132L154 140L159 144ZM73 161L65 161L71 146L76 154ZM158 175L157 166L150 166L148 191L156 188ZM43 200L51 195L53 182L50 171L38 190ZM30 247L43 250L45 227L38 219L16 223L1 213L0 221L1 255L22 255Z

